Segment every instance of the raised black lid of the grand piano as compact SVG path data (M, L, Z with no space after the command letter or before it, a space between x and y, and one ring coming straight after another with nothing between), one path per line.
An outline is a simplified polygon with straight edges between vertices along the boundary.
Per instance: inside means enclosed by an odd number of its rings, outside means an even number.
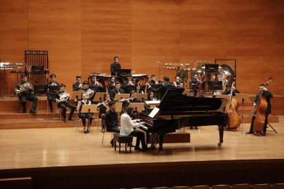
M181 89L169 89L158 108L161 112L223 112L226 99L213 97L188 97Z

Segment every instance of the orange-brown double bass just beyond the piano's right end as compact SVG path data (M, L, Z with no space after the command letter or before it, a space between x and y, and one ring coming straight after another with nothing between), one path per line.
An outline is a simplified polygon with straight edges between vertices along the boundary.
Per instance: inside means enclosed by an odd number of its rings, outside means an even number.
M232 87L230 88L230 103L225 106L225 113L228 114L228 129L237 129L241 125L241 115L237 111L239 104L237 98L233 97L233 87L235 78L233 79Z

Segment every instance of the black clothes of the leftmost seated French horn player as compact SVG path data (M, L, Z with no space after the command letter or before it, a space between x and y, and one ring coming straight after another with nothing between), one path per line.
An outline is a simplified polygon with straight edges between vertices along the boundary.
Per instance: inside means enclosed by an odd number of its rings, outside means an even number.
M22 84L24 84L24 82L19 82L18 84L16 84L16 89L20 90L20 86ZM21 92L19 95L19 100L21 101L21 105L23 107L23 113L27 112L26 109L27 101L32 101L32 107L31 110L29 110L29 114L35 114L36 105L38 105L38 98L34 94L32 94L32 91L34 90L32 84L29 81L27 81L27 84L29 84L31 88L28 88L27 90Z

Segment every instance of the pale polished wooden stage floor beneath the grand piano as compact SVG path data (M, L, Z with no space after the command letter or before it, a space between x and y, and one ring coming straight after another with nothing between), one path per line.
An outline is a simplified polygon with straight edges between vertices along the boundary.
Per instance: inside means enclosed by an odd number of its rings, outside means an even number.
M0 170L17 168L43 168L57 166L86 166L108 164L141 164L163 162L194 162L222 160L270 160L284 159L284 116L280 123L273 123L278 133L266 136L245 134L250 124L237 131L224 131L224 143L218 149L217 126L201 127L191 133L190 143L164 144L162 155L156 151L134 151L121 154L110 146L110 134L106 133L102 146L102 132L93 128L83 134L75 127L47 129L1 129ZM64 124L64 123L62 123ZM271 128L268 128L271 130ZM129 152L129 148L128 148Z

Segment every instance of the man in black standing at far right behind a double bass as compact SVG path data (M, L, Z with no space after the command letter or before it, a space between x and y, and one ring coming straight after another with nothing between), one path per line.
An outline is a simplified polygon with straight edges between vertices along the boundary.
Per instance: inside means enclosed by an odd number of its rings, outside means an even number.
M268 107L266 108L265 111L265 121L264 121L264 126L263 126L263 131L262 131L262 135L265 136L266 135L266 127L268 127L268 116L269 114L271 114L271 103L270 103L270 99L273 98L272 93L265 88L264 84L261 84L259 86L259 93L256 95L255 100L253 101L253 108L255 109L257 106L257 102L259 101L259 97L262 93L262 97L265 98L266 102L268 103ZM250 123L250 131L248 131L246 134L253 134L253 123L255 121L255 115L252 116L252 123Z

